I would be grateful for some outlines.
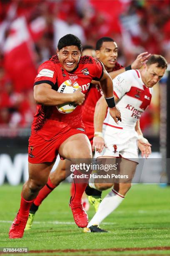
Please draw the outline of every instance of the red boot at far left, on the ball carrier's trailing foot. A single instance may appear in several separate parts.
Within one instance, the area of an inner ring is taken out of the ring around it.
[[[27,224],[28,218],[25,220],[20,219],[18,214],[16,215],[9,231],[9,238],[14,239],[14,238],[22,238],[24,234],[24,229]]]

